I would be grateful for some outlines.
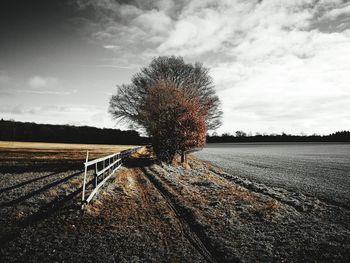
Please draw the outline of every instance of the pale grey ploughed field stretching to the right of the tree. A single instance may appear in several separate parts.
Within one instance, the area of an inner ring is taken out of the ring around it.
[[[195,156],[229,174],[350,209],[349,143],[208,144]]]

